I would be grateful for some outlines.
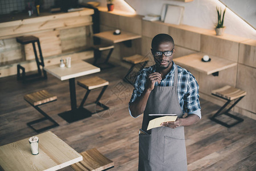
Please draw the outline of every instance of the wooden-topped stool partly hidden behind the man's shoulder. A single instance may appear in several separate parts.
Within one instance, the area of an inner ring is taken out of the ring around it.
[[[136,64],[143,63],[140,68],[140,70],[142,70],[147,65],[149,59],[148,59],[148,57],[144,57],[142,55],[136,54],[133,56],[125,57],[125,58],[123,58],[123,60],[125,60],[126,62],[129,62],[129,63],[132,63],[131,68],[129,68],[129,70],[128,70],[127,74],[124,76],[123,80],[127,81],[128,83],[133,85],[131,80],[128,79],[128,75],[132,72],[132,70],[136,66]]]

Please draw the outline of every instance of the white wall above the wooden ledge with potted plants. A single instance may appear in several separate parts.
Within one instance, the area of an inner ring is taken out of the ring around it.
[[[85,0],[84,0],[85,1]],[[98,0],[101,3],[101,6],[106,6],[105,0]],[[213,30],[217,21],[217,12],[216,6],[221,6],[222,9],[225,8],[222,3],[218,0],[194,0],[192,2],[178,2],[178,1],[166,1],[166,0],[140,0],[140,1],[132,1],[126,0],[129,5],[136,10],[136,13],[139,15],[147,15],[147,14],[161,14],[162,5],[171,4],[184,6],[184,18],[183,24],[195,27],[206,28],[209,30]],[[236,0],[239,1],[239,0]],[[248,0],[247,0],[248,1]],[[127,7],[124,5],[123,0],[115,0],[115,9],[118,10],[127,10]],[[255,11],[255,6],[251,5],[250,9]],[[243,11],[246,13],[247,10]],[[255,15],[255,14],[254,14]],[[256,30],[251,28],[247,23],[234,15],[230,10],[226,11],[225,14],[225,22],[226,26],[225,32],[227,34],[238,35],[245,38],[255,39],[256,40]]]

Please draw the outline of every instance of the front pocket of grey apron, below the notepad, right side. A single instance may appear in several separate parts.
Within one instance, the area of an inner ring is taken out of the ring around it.
[[[180,162],[186,160],[185,139],[173,139],[164,136],[164,162]]]

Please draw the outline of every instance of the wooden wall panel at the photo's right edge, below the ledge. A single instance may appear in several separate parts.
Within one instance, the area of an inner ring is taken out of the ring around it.
[[[238,62],[256,68],[256,40],[250,39],[239,44]]]

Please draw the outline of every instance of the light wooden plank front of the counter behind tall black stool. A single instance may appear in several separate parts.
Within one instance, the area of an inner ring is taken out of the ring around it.
[[[46,65],[59,63],[65,55],[76,54],[78,58],[78,54],[86,54],[79,59],[92,58],[92,51],[86,51],[91,42],[92,14],[92,9],[43,13],[39,17],[0,23],[0,78],[17,74],[17,64],[22,64],[26,72],[36,70],[32,44],[24,46],[17,43],[18,36],[34,35],[39,38]]]

